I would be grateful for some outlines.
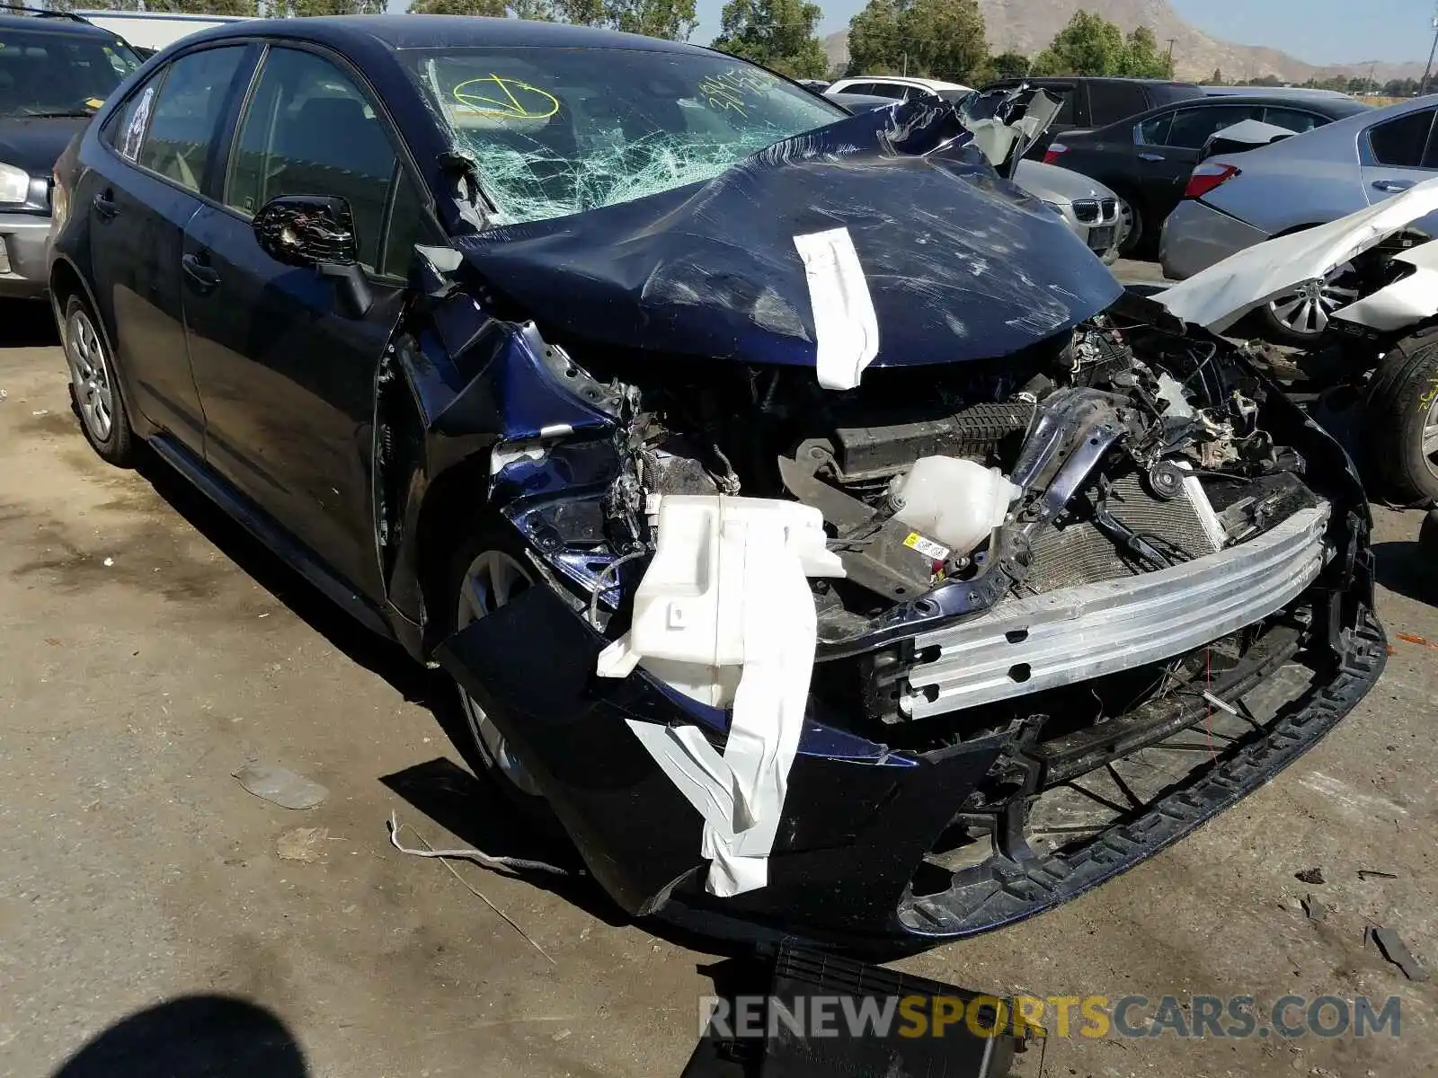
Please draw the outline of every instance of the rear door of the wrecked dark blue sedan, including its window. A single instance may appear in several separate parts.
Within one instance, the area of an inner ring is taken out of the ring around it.
[[[203,204],[216,134],[247,70],[247,47],[180,56],[137,88],[101,134],[81,193],[101,315],[134,404],[196,453],[200,408],[180,299],[184,227]]]

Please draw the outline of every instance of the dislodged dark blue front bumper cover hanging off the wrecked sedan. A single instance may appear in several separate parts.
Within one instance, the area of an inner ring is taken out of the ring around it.
[[[1301,589],[1296,581],[1309,576],[1311,526],[1300,520],[1255,559],[1291,558],[1291,572],[1276,572],[1284,584],[1274,596]],[[1205,720],[1206,704],[1199,699],[1201,710],[1191,700],[1186,710],[1156,722],[1116,716],[1040,745],[1025,743],[1024,730],[1009,726],[976,732],[945,749],[906,752],[841,729],[818,699],[811,700],[768,885],[729,898],[705,891],[699,812],[627,726],[628,720],[696,726],[722,746],[725,713],[696,704],[643,670],[626,678],[595,677],[607,640],[549,588],[531,588],[456,634],[440,647],[439,658],[518,750],[594,878],[628,914],[654,914],[716,936],[798,934],[831,946],[892,952],[975,934],[1058,906],[1150,857],[1291,763],[1363,697],[1383,668],[1383,634],[1365,605],[1368,572],[1360,552],[1345,591],[1322,579],[1307,586],[1276,618],[1284,622],[1291,645],[1270,645],[1267,657],[1255,647],[1257,657],[1247,667],[1228,681],[1212,683],[1214,697],[1234,709],[1258,690],[1281,697],[1271,717],[1244,720],[1227,734],[1221,729],[1227,713],[1209,707]],[[1215,621],[1204,631],[1222,631],[1224,624]],[[1307,627],[1301,632],[1294,628],[1300,624]],[[827,676],[820,664],[815,680]],[[1081,842],[1067,835],[1045,851],[1028,834],[1043,822],[1032,814],[1041,815],[1044,799],[1061,796],[1074,778],[1102,773],[1104,762],[1153,770],[1145,753],[1178,752],[1171,749],[1175,737],[1202,736],[1188,733],[1195,726],[1222,743],[1165,779],[1148,802],[1096,825]],[[995,776],[1007,782],[1015,760],[1031,766],[1032,785],[995,805]],[[940,839],[956,821],[984,812],[989,814],[992,849],[966,867],[936,870],[932,855]],[[933,885],[936,871],[942,878]]]

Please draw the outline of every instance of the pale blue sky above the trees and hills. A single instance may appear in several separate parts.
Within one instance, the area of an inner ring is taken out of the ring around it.
[[[818,0],[821,34],[843,30],[864,0]],[[1426,60],[1432,0],[1169,0],[1192,26],[1238,45],[1267,45],[1310,63]],[[699,0],[707,45],[719,32],[723,0]]]

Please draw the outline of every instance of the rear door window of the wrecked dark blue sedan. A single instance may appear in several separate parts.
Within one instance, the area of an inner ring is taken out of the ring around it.
[[[168,66],[150,111],[148,128],[142,132],[138,157],[142,167],[191,191],[204,190],[210,145],[219,134],[230,82],[244,59],[244,47],[206,49],[181,56]],[[144,103],[145,92],[138,96],[137,109]]]

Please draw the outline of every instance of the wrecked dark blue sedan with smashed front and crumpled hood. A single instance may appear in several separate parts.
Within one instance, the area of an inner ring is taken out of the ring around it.
[[[1012,923],[1386,655],[1343,450],[1009,181],[1055,105],[851,116],[518,20],[198,33],[56,168],[76,413],[443,665],[630,914]]]

